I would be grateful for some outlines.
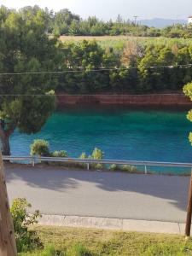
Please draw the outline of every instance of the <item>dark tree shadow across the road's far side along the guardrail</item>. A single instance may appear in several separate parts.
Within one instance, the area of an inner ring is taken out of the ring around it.
[[[63,192],[66,189],[77,189],[80,182],[87,182],[112,193],[132,191],[164,198],[183,211],[186,209],[189,189],[189,177],[67,171],[56,167],[6,167],[6,178],[8,183],[22,180],[31,187]]]

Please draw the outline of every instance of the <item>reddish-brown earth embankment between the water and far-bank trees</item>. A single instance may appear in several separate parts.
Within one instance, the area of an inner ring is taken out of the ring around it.
[[[192,106],[183,94],[151,95],[66,95],[58,96],[59,106],[74,104],[108,104],[132,106]]]

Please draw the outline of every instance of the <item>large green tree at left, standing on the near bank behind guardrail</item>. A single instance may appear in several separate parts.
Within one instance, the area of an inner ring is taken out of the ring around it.
[[[56,39],[48,38],[45,23],[38,10],[29,20],[11,12],[0,25],[0,73],[12,73],[0,76],[0,138],[6,155],[15,128],[36,133],[55,109],[57,79],[30,74],[55,70],[60,61]]]

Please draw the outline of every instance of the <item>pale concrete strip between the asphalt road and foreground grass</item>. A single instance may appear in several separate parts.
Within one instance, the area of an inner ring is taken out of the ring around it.
[[[38,224],[73,228],[94,228],[184,235],[184,224],[154,220],[97,218],[43,214]]]

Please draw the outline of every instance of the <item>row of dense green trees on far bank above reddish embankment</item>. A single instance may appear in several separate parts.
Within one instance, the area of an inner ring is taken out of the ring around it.
[[[58,90],[67,93],[177,91],[192,79],[192,67],[180,67],[192,63],[192,46],[130,42],[117,53],[113,48],[102,49],[96,41],[84,40],[63,44],[61,51],[62,68],[77,71],[59,77]]]

